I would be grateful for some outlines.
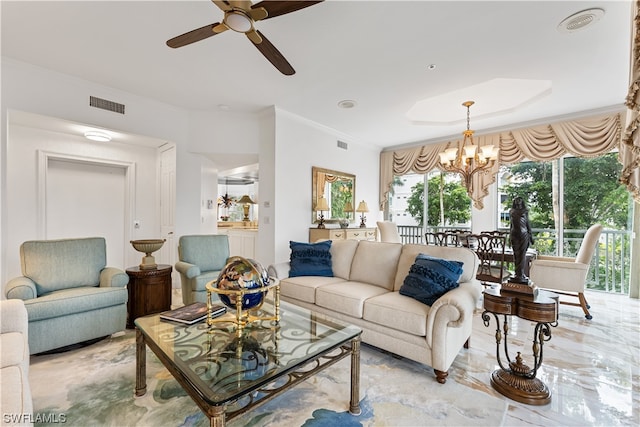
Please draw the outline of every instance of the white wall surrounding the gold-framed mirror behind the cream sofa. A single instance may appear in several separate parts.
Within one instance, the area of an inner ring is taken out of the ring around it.
[[[284,110],[276,109],[275,126],[275,249],[273,260],[289,259],[289,240],[308,242],[311,221],[311,167],[356,176],[355,200],[365,200],[371,212],[367,225],[382,218],[378,201],[380,152],[354,143],[338,148],[337,133]],[[348,141],[345,141],[348,142]],[[262,175],[262,166],[261,166]],[[264,191],[261,179],[260,189]],[[356,204],[357,206],[357,204]],[[358,215],[359,218],[359,215]]]

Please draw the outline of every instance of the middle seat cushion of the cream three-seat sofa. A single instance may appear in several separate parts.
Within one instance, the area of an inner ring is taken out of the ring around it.
[[[361,318],[364,302],[387,292],[380,286],[353,281],[324,285],[316,288],[316,305]]]

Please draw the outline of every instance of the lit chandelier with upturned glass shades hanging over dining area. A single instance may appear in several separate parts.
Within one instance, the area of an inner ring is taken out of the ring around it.
[[[469,196],[473,194],[473,176],[478,172],[488,173],[498,158],[498,149],[493,145],[482,146],[478,151],[478,146],[473,143],[473,131],[469,128],[469,107],[473,104],[473,101],[462,103],[467,107],[467,130],[462,132],[462,147],[447,148],[439,153],[441,169],[459,173]]]

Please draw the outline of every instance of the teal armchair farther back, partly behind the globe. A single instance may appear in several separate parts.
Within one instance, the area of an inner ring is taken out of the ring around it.
[[[175,267],[180,273],[182,302],[207,302],[206,284],[218,278],[229,258],[229,237],[221,234],[181,236]],[[217,298],[217,296],[216,296]]]

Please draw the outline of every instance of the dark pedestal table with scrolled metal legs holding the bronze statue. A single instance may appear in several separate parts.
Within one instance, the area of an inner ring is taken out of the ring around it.
[[[491,314],[496,319],[496,357],[499,369],[491,374],[491,385],[504,396],[530,405],[546,405],[551,402],[551,392],[536,373],[542,365],[542,349],[545,341],[551,339],[551,327],[558,325],[558,295],[549,291],[538,291],[538,294],[527,295],[508,292],[501,289],[484,291],[484,312],[482,320],[489,326]],[[502,331],[500,317],[503,315]],[[525,365],[520,352],[515,360],[509,356],[507,336],[509,323],[507,316],[518,316],[521,319],[536,322],[533,338],[533,368]],[[504,356],[508,365],[500,356],[500,343],[504,332]]]

